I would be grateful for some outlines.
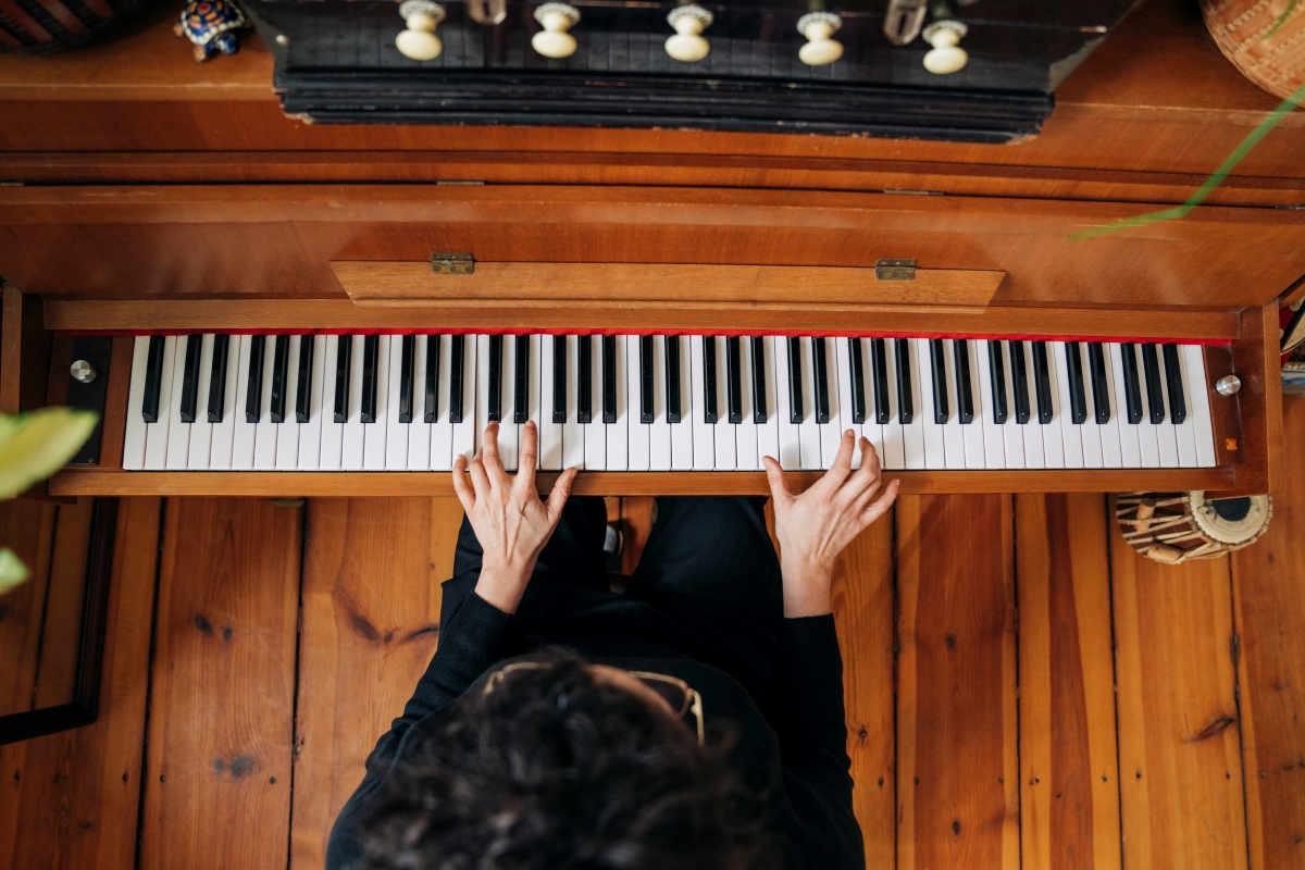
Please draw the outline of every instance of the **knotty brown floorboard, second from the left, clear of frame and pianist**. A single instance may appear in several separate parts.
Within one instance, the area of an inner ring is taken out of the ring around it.
[[[159,574],[140,866],[283,866],[299,510],[174,498]]]

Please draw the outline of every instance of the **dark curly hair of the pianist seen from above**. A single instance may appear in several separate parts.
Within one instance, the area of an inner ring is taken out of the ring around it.
[[[363,823],[372,870],[770,870],[763,800],[681,723],[586,661],[467,693],[423,734]]]

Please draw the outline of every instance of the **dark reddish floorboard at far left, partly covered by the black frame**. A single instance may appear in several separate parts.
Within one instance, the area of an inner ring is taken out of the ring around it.
[[[0,746],[0,866],[134,866],[159,509],[119,505],[97,720]]]

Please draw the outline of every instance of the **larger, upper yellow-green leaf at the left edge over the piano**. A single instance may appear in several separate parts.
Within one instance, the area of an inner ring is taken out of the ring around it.
[[[95,429],[98,415],[40,408],[0,415],[0,498],[12,498],[72,459]]]

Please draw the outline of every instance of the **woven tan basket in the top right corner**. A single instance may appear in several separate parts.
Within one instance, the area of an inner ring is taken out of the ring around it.
[[[1274,26],[1291,0],[1201,0],[1201,12],[1224,57],[1283,99],[1305,85],[1305,0]],[[1272,35],[1268,35],[1272,31]]]

